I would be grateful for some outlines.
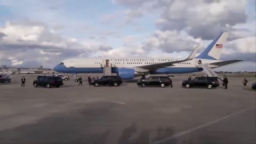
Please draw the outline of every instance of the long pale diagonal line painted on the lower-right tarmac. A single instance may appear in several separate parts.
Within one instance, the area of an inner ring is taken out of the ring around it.
[[[251,110],[251,109],[255,109],[255,107],[246,108],[246,109],[237,111],[237,112],[234,113],[234,114],[227,115],[227,116],[225,116],[225,117],[216,119],[215,121],[212,121],[212,122],[209,122],[209,123],[206,123],[206,124],[203,124],[203,125],[199,125],[199,126],[193,128],[193,129],[189,129],[189,130],[187,130],[187,131],[183,131],[183,132],[174,134],[172,137],[169,137],[169,138],[166,138],[166,139],[163,139],[163,140],[159,140],[159,141],[156,141],[156,142],[154,142],[154,143],[163,143],[163,142],[165,142],[165,141],[167,141],[167,140],[171,140],[171,139],[173,139],[173,138],[180,137],[180,136],[185,135],[185,134],[188,134],[188,133],[190,133],[190,132],[194,132],[194,131],[196,131],[196,130],[202,129],[203,127],[212,125],[212,124],[214,124],[214,123],[218,123],[218,122],[220,122],[220,121],[222,121],[222,120],[224,120],[224,119],[227,119],[227,118],[229,118],[229,117],[232,117],[232,116],[241,114],[241,113],[243,113],[244,111]]]

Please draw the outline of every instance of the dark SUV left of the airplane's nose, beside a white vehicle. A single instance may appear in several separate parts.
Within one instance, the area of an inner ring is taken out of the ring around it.
[[[55,76],[38,76],[37,80],[33,82],[34,87],[37,86],[46,86],[51,88],[52,86],[60,87],[63,85],[61,77]]]

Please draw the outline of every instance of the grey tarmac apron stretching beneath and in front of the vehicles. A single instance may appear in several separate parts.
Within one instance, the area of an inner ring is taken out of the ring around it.
[[[0,83],[0,143],[256,143],[255,77],[229,77],[228,89],[181,86],[33,86],[37,75]]]

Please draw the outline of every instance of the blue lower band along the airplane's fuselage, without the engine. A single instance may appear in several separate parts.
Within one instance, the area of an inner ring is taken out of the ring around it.
[[[118,74],[119,68],[111,68],[112,73]],[[54,71],[59,73],[103,73],[103,68],[67,68],[64,65],[58,65],[53,68]],[[150,74],[182,74],[182,73],[194,73],[202,71],[202,68],[175,68],[166,67],[158,70],[150,71]]]

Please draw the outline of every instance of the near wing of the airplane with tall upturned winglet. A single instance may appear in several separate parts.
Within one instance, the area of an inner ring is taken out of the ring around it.
[[[197,45],[195,47],[194,51],[191,52],[189,57],[187,59],[185,59],[185,60],[170,61],[170,62],[157,63],[157,64],[152,64],[152,65],[138,66],[138,68],[148,69],[148,70],[155,70],[155,69],[164,68],[164,67],[171,67],[171,66],[174,66],[173,65],[174,63],[179,63],[179,62],[193,60],[195,58],[195,56],[196,56],[196,53],[197,53],[198,49],[199,49],[199,46]]]

